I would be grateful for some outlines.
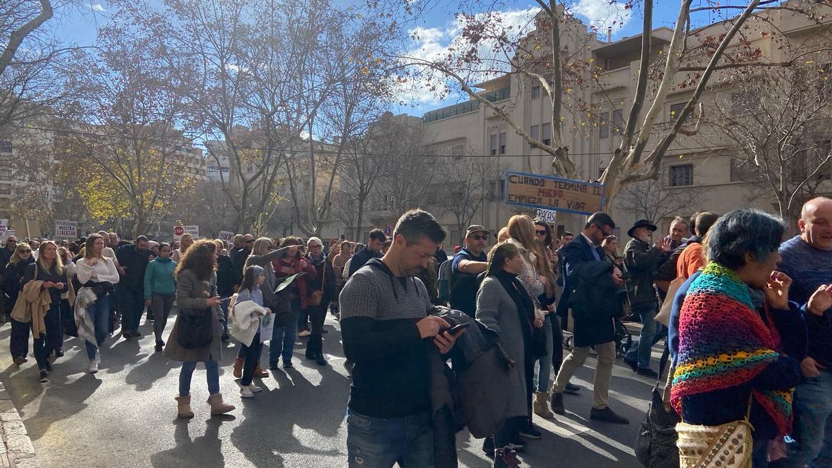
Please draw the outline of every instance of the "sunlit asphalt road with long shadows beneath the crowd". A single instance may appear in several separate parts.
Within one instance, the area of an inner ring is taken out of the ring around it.
[[[171,316],[167,330],[170,331]],[[324,351],[330,366],[304,359],[305,339],[295,346],[295,369],[273,371],[264,391],[241,401],[231,376],[235,346],[223,350],[220,385],[226,401],[237,406],[230,416],[210,417],[205,370],[197,367],[191,385],[196,417],[176,418],[180,363],[153,351],[151,325],[143,323],[140,341],[120,334],[106,341],[101,371],[90,375],[82,343],[67,340],[48,384],[37,382],[34,358],[17,369],[8,352],[10,326],[0,327],[0,379],[21,412],[42,466],[347,466],[344,411],[349,377],[337,321],[329,317]],[[265,350],[264,350],[265,352]],[[657,354],[656,354],[657,356]],[[641,466],[631,447],[647,407],[652,383],[621,361],[615,367],[611,406],[630,418],[619,426],[589,420],[592,366],[580,369],[573,383],[580,396],[565,396],[567,416],[535,423],[543,432],[529,442],[521,460],[527,466]],[[488,467],[481,440],[458,435],[460,466]]]

